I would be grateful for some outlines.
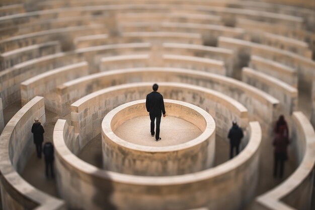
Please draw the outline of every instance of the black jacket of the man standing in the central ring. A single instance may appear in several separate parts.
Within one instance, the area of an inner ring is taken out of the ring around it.
[[[147,94],[145,106],[146,111],[150,112],[153,116],[161,115],[161,111],[165,114],[163,96],[156,91]]]

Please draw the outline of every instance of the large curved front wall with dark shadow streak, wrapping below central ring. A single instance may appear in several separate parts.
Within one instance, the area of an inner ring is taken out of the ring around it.
[[[209,210],[231,210],[245,206],[254,196],[262,135],[258,122],[249,123],[250,140],[239,156],[211,169],[166,177],[126,175],[96,168],[66,147],[65,127],[66,120],[59,119],[53,140],[58,189],[69,208],[180,210],[204,206]]]

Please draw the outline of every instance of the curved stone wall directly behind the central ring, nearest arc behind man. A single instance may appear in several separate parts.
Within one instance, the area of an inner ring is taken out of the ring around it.
[[[243,128],[247,127],[247,109],[228,96],[187,84],[161,82],[159,86],[165,99],[191,103],[209,112],[216,122],[216,134],[224,139],[232,120],[237,119]],[[151,91],[152,83],[125,84],[99,90],[71,104],[72,125],[80,134],[78,147],[83,148],[101,133],[100,124],[109,111],[124,103],[144,99]]]

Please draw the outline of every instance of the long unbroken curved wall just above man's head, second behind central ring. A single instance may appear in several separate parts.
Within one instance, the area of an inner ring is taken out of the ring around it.
[[[264,129],[269,129],[268,132],[272,130],[272,124],[279,114],[279,101],[253,86],[219,75],[178,68],[134,68],[94,74],[64,83],[57,87],[57,94],[62,99],[61,106],[64,109],[63,115],[65,115],[69,113],[67,109],[70,103],[89,93],[112,85],[148,81],[152,83],[159,81],[180,82],[224,93],[244,104],[249,110],[249,117],[259,120]]]

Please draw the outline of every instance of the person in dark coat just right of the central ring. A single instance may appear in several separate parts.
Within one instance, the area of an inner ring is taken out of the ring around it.
[[[232,122],[232,127],[228,132],[228,138],[229,138],[229,143],[230,143],[230,153],[229,153],[229,158],[233,158],[233,150],[235,148],[236,150],[236,155],[239,155],[240,152],[240,143],[243,138],[243,130],[242,128],[239,127],[238,123],[234,120]]]

